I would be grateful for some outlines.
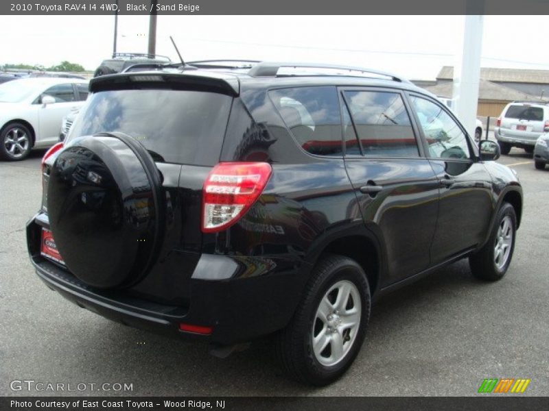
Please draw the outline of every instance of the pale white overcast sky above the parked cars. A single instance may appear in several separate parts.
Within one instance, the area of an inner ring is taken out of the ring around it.
[[[327,62],[434,79],[453,65],[463,16],[159,16],[156,53]],[[547,16],[485,16],[483,67],[548,69]],[[113,51],[114,16],[0,16],[0,64],[95,70]],[[146,52],[148,16],[119,16],[117,51]]]

